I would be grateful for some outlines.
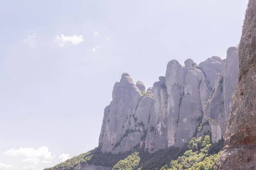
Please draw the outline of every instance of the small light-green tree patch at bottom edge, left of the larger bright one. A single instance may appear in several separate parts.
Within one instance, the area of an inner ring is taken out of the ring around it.
[[[134,170],[140,163],[140,156],[138,152],[134,152],[127,158],[120,160],[112,170]]]

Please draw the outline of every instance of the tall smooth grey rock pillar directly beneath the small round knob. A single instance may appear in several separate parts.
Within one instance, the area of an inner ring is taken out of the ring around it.
[[[184,84],[184,96],[180,105],[179,122],[177,125],[175,146],[181,147],[189,141],[201,124],[203,111],[200,101],[198,75],[195,68],[186,73]],[[198,69],[197,69],[198,70]],[[199,70],[198,70],[199,71]],[[203,75],[203,74],[202,74]],[[200,84],[199,84],[200,83]]]

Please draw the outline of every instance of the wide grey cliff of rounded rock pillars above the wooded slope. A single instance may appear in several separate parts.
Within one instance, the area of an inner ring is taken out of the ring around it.
[[[212,132],[218,142],[226,128],[232,95],[238,82],[237,48],[227,50],[227,59],[213,56],[197,65],[171,60],[166,76],[159,77],[145,92],[122,74],[105,108],[99,146],[102,152],[126,152],[134,147],[149,152],[181,147],[196,135]]]

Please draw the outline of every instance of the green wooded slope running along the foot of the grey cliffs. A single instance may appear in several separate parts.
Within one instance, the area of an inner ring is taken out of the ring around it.
[[[210,136],[198,137],[181,148],[169,147],[154,153],[145,151],[145,144],[143,148],[138,144],[133,150],[118,154],[102,153],[101,147],[96,147],[45,170],[74,170],[78,164],[113,167],[113,170],[213,170],[223,143],[224,139],[211,144]]]

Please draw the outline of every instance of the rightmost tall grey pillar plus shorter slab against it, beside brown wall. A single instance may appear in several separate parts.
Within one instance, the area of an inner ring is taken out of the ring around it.
[[[215,75],[214,88],[207,104],[206,116],[212,129],[213,142],[225,137],[232,96],[238,83],[238,68],[238,48],[230,47],[227,50],[227,59],[221,61],[221,74]]]

